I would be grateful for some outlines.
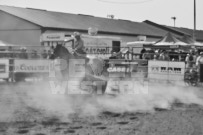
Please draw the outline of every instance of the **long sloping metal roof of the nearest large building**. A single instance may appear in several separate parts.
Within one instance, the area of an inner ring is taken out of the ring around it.
[[[162,37],[167,33],[167,31],[163,29],[144,22],[132,22],[128,20],[2,5],[0,5],[0,11],[47,28],[88,30],[89,27],[96,27],[99,32],[146,35],[152,37]]]

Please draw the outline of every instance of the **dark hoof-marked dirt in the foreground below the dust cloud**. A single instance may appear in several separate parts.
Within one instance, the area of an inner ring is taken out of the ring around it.
[[[27,85],[26,89],[29,87]],[[81,115],[79,108],[69,112],[68,119],[63,119],[58,115],[47,115],[43,108],[39,109],[25,103],[24,101],[30,100],[26,99],[26,95],[23,95],[23,100],[19,100],[18,96],[5,92],[12,89],[14,93],[19,93],[16,88],[15,85],[1,84],[1,93],[4,91],[4,94],[0,96],[0,113],[3,115],[0,117],[0,135],[203,134],[203,107],[197,104],[173,103],[170,109],[154,108],[151,112],[118,113],[102,111],[97,115]],[[22,90],[25,87],[20,88]],[[22,106],[12,109],[15,108],[15,104]],[[6,109],[8,107],[10,110]],[[13,115],[15,119],[12,119]]]

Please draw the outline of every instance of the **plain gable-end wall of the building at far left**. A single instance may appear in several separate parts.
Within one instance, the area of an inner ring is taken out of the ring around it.
[[[41,28],[0,11],[0,40],[13,45],[40,45]]]

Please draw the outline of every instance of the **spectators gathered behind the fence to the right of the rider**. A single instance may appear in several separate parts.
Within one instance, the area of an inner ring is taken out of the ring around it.
[[[161,50],[161,49],[149,49],[143,48],[139,54],[129,53],[131,55],[130,59],[136,60],[160,60],[160,61],[182,61],[185,62],[186,68],[198,68],[200,63],[203,64],[203,51],[198,50],[188,50],[188,51],[177,51],[171,50]],[[129,59],[125,57],[121,52],[111,52],[109,59]]]

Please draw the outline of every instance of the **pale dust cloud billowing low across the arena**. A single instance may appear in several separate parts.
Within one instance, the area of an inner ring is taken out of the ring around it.
[[[69,95],[53,94],[47,82],[5,84],[0,90],[0,121],[41,121],[47,117],[69,121],[73,114],[96,117],[105,111],[153,113],[154,108],[170,109],[174,102],[203,104],[198,88],[147,85],[147,93]],[[139,87],[142,85],[133,89]]]

